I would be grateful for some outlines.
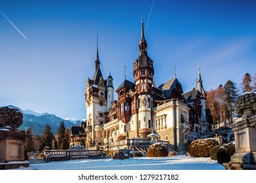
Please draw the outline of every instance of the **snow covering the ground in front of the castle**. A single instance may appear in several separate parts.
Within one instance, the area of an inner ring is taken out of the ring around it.
[[[224,170],[211,158],[172,156],[166,158],[79,159],[30,165],[38,170]]]

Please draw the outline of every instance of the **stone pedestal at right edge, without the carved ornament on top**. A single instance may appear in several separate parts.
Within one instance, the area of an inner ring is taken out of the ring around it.
[[[230,125],[234,131],[236,153],[226,169],[256,169],[256,115],[244,115]]]

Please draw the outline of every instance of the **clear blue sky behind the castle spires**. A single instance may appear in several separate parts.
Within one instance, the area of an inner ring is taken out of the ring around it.
[[[153,6],[152,6],[153,5]],[[150,9],[152,9],[150,13]],[[156,85],[177,78],[184,92],[256,73],[256,1],[0,1],[0,106],[85,118],[96,31],[100,68],[117,88],[133,81],[141,10]],[[115,95],[117,98],[117,95]]]

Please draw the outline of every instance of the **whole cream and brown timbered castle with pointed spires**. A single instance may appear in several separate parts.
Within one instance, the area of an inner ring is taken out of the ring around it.
[[[129,148],[127,142],[137,139],[165,142],[174,151],[186,152],[190,142],[211,131],[200,69],[197,86],[190,92],[183,93],[176,76],[157,87],[147,47],[142,18],[139,57],[133,62],[134,80],[121,82],[114,101],[113,77],[104,80],[97,46],[95,73],[92,79],[87,78],[85,92],[87,148]]]

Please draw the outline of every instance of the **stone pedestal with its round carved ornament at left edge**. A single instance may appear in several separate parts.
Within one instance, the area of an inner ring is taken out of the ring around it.
[[[0,169],[28,167],[25,160],[25,131],[17,129],[23,123],[19,108],[0,108]]]

